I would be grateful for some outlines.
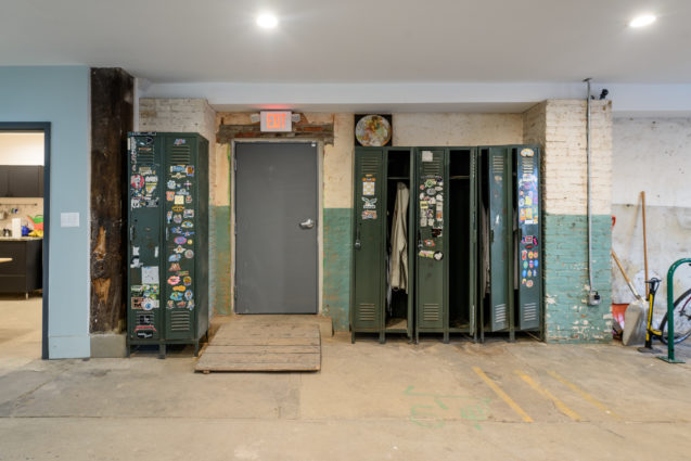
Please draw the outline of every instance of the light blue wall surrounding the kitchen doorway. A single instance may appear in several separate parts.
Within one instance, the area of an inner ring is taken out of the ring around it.
[[[89,67],[0,67],[0,121],[50,121],[50,358],[89,357]],[[79,213],[61,228],[61,213]]]

